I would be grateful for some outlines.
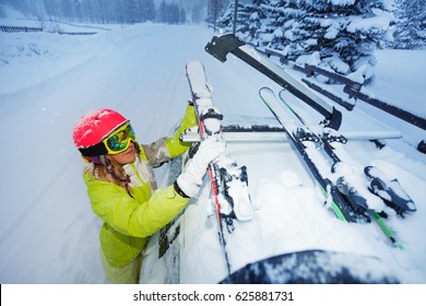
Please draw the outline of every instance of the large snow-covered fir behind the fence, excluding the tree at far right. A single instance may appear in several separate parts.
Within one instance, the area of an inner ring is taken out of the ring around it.
[[[389,0],[253,0],[238,35],[281,50],[288,60],[315,60],[339,73],[372,76],[374,50],[387,39]],[[221,26],[230,28],[228,20]]]

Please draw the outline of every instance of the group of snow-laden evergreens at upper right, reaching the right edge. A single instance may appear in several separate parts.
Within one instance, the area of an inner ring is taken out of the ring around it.
[[[425,0],[397,1],[253,0],[239,4],[237,17],[230,1],[216,26],[286,60],[368,82],[377,48],[426,48]]]

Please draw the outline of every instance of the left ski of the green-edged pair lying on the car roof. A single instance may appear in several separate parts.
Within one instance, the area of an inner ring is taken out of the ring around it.
[[[327,170],[322,169],[321,172],[319,169],[317,164],[319,164],[319,160],[324,160],[324,154],[329,155],[333,162],[330,167],[331,169],[341,162],[332,151],[330,143],[328,141],[323,141],[323,138],[312,132],[309,127],[305,125],[304,119],[287,105],[291,110],[289,113],[300,121],[299,125],[296,123],[293,118],[287,115],[283,104],[276,98],[271,89],[260,89],[259,95],[274,117],[284,127],[288,138],[292,140],[294,146],[297,149],[297,152],[310,169],[317,184],[320,186],[327,201],[331,201],[331,208],[336,216],[347,222],[369,223],[375,220],[391,243],[394,246],[402,248],[401,245],[397,243],[392,231],[388,228],[379,213],[371,210],[368,205],[367,199],[369,198],[357,190],[356,187],[358,184],[356,184],[356,181],[354,184],[352,176],[348,176],[348,178],[342,175],[334,179]],[[335,134],[333,134],[333,137],[335,137]],[[341,136],[339,136],[338,139],[340,139],[340,141],[345,141]],[[326,163],[326,167],[327,166],[330,166],[330,164]],[[331,199],[329,199],[330,197]],[[380,203],[378,205],[380,205]]]

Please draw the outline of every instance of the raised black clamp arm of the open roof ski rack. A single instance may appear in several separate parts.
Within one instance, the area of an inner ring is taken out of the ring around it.
[[[336,130],[340,128],[340,110],[234,34],[214,36],[205,46],[205,50],[222,62],[225,62],[227,54],[232,52],[323,115],[326,126]]]

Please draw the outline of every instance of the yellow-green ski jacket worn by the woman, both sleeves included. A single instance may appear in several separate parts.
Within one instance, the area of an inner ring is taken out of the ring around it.
[[[110,181],[97,179],[90,166],[83,174],[92,209],[103,221],[99,239],[102,250],[113,267],[123,267],[144,248],[149,237],[173,221],[189,199],[175,192],[174,186],[157,189],[153,167],[185,153],[190,144],[179,134],[197,125],[194,109],[186,115],[173,138],[141,145],[141,154],[125,165],[131,178],[131,195]]]

